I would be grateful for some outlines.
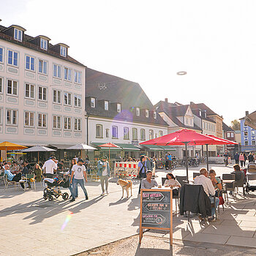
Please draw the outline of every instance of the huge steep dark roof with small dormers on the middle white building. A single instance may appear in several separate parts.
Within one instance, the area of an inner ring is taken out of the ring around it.
[[[91,108],[90,101],[86,100],[86,112],[90,115],[167,127],[158,113],[157,118],[154,118],[154,106],[138,83],[87,67],[86,97],[94,97],[98,102],[96,108]],[[105,110],[104,104],[99,104],[104,100],[110,102],[109,110]],[[113,107],[116,103],[121,103],[121,113],[117,113],[116,107]],[[135,108],[140,108],[140,116],[136,116]],[[146,118],[145,110],[149,110],[148,118]]]

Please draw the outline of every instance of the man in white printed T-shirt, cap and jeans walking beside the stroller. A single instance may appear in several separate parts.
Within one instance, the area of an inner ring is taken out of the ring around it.
[[[73,180],[73,177],[74,177],[74,180]],[[80,184],[80,187],[83,189],[84,195],[86,196],[86,200],[89,200],[86,187],[84,187],[83,178],[85,178],[87,182],[86,167],[83,165],[83,159],[78,159],[78,165],[72,166],[70,183],[73,184],[73,187],[71,192],[72,199],[70,200],[70,202],[75,201],[75,190],[78,188],[78,184]]]

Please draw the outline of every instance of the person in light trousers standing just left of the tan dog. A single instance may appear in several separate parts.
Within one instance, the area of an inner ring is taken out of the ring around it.
[[[105,182],[106,193],[108,195],[108,178],[110,177],[110,166],[107,159],[108,159],[107,156],[103,156],[102,161],[99,160],[97,164],[97,169],[98,169],[97,176],[99,176],[100,184],[102,187],[101,195],[105,195],[104,182]]]

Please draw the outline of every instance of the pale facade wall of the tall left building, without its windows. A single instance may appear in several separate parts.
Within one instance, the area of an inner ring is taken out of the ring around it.
[[[4,48],[4,63],[0,63],[0,78],[3,78],[3,91],[0,93],[0,140],[8,140],[27,146],[48,145],[49,143],[81,143],[85,141],[85,67],[69,61],[31,50],[12,42],[0,39]],[[18,52],[18,67],[7,64],[7,50]],[[26,56],[35,59],[35,71],[26,70]],[[48,64],[48,75],[39,73],[39,59]],[[53,78],[53,64],[61,65],[61,79]],[[72,69],[72,81],[64,80],[64,67]],[[81,72],[81,83],[74,83],[74,71]],[[18,82],[18,97],[7,95],[7,79]],[[25,97],[25,83],[35,86],[34,99]],[[47,100],[38,99],[39,86],[47,89]],[[61,104],[53,104],[53,89],[61,91]],[[72,94],[72,105],[64,105],[64,92]],[[74,107],[74,94],[81,97],[81,107]],[[7,124],[7,109],[18,110],[17,125]],[[34,125],[25,127],[24,112],[34,113]],[[47,116],[47,127],[38,127],[38,114]],[[61,116],[61,129],[53,129],[53,114]],[[71,129],[64,130],[64,117],[70,117]],[[81,131],[74,130],[74,118],[81,118]]]

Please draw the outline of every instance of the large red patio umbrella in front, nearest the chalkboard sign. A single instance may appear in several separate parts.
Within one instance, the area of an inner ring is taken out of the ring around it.
[[[187,170],[187,181],[189,180],[189,166],[187,159],[187,146],[196,146],[196,145],[215,145],[214,143],[221,143],[219,138],[212,138],[208,135],[203,135],[202,133],[195,132],[191,129],[181,129],[177,132],[173,132],[167,135],[164,135],[153,140],[147,140],[140,145],[159,145],[159,146],[183,146],[185,145],[186,152],[186,170]],[[207,146],[206,146],[207,148]],[[208,148],[207,148],[208,150]],[[208,156],[208,154],[207,154]],[[208,157],[207,157],[208,159]],[[207,165],[208,167],[208,165]]]

